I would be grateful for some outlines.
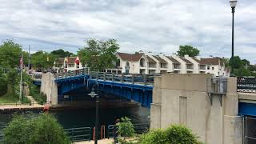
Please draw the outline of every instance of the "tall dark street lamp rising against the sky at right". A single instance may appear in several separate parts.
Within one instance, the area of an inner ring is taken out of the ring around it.
[[[230,76],[234,77],[234,8],[237,5],[236,0],[230,0],[230,7],[232,9],[232,56],[231,56],[231,72]]]

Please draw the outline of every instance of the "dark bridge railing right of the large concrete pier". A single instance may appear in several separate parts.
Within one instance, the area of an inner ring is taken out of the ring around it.
[[[242,93],[256,93],[256,78],[237,78],[237,90]]]

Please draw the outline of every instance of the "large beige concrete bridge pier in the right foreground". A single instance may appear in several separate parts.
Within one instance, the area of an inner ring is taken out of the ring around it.
[[[204,143],[242,143],[236,78],[228,78],[228,93],[222,97],[222,105],[216,94],[211,105],[206,93],[207,78],[212,78],[212,74],[162,74],[155,78],[151,128],[181,123]]]

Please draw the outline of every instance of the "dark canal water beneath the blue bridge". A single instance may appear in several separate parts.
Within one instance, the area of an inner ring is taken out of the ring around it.
[[[32,111],[39,114],[40,111]],[[25,113],[25,112],[19,112]],[[95,122],[95,107],[50,110],[64,128],[93,127]],[[14,113],[0,113],[0,126],[7,125]],[[102,107],[99,109],[99,122],[102,126],[114,124],[117,118],[128,117],[134,124],[150,123],[150,109],[142,106]]]

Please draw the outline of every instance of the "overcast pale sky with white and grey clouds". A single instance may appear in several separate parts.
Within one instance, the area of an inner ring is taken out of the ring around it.
[[[256,63],[256,1],[238,0],[234,54]],[[76,53],[90,38],[114,38],[121,52],[174,54],[180,45],[201,57],[230,58],[232,14],[227,0],[0,0],[0,41],[24,50]]]

